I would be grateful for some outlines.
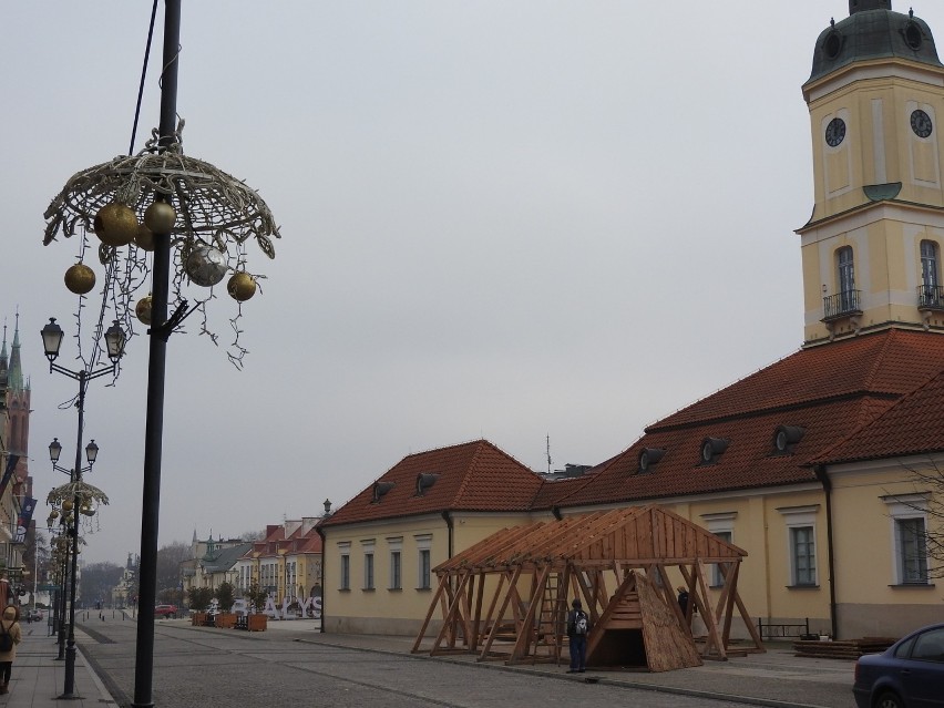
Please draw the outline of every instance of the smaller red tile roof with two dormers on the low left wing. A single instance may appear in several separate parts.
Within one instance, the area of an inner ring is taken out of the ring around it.
[[[439,475],[422,494],[420,474]],[[374,501],[374,484],[321,525],[396,519],[443,511],[527,511],[541,478],[491,442],[478,440],[403,458],[376,484],[392,484]]]

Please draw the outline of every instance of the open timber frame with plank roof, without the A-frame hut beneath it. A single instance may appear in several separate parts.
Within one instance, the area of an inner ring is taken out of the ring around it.
[[[412,651],[473,653],[479,660],[504,658],[509,664],[560,663],[573,595],[583,598],[591,616],[592,653],[606,630],[610,601],[619,596],[607,588],[607,576],[615,576],[612,589],[619,591],[634,571],[645,572],[692,643],[695,608],[701,614],[707,628],[702,658],[731,655],[736,612],[753,640],[752,647],[741,651],[763,651],[737,591],[740,562],[746,556],[738,546],[656,504],[504,529],[433,568],[439,583]],[[720,588],[712,588],[719,591],[715,606],[709,602],[710,564],[718,565],[724,578]],[[689,594],[685,615],[667,572],[673,566]],[[486,585],[491,586],[488,606]],[[421,649],[437,608],[442,617],[440,629],[432,647]],[[513,643],[511,649],[497,648],[509,642]]]

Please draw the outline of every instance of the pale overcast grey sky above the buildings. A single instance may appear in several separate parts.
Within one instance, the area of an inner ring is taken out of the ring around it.
[[[913,7],[944,35],[941,3]],[[64,481],[47,445],[71,459],[76,421],[39,330],[74,330],[78,253],[42,246],[42,215],[126,152],[150,12],[4,11],[0,316],[9,346],[19,307],[41,500]],[[597,463],[794,351],[800,85],[831,17],[846,0],[184,0],[185,152],[258,189],[283,238],[274,261],[249,247],[268,279],[243,371],[194,327],[171,338],[161,544],[317,515],[478,438],[535,470],[545,435],[555,469]],[[163,3],[135,150],[162,29]],[[75,352],[66,338],[61,363]],[[89,480],[112,504],[86,561],[138,551],[146,368],[137,337],[117,386],[89,391]]]

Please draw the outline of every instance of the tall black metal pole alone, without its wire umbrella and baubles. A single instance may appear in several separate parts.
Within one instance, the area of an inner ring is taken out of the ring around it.
[[[164,3],[164,71],[161,75],[160,144],[173,141],[177,123],[177,53],[181,44],[181,0]],[[151,342],[147,365],[147,420],[144,431],[144,491],[141,507],[141,572],[133,708],[154,705],[154,605],[157,593],[157,523],[161,509],[161,451],[164,435],[164,378],[167,360],[167,296],[171,279],[171,235],[154,235],[151,288]]]

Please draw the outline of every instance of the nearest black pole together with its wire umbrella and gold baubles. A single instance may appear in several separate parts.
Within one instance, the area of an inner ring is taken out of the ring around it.
[[[133,708],[153,706],[152,608],[156,596],[167,338],[196,309],[205,315],[206,305],[215,299],[211,290],[197,296],[191,307],[184,297],[191,286],[213,288],[232,274],[226,293],[242,308],[255,295],[260,277],[248,270],[245,244],[254,239],[263,254],[275,258],[273,239],[280,238],[271,211],[255,189],[209,163],[184,155],[183,121],[178,122],[176,110],[181,2],[164,1],[161,119],[155,138],[136,155],[121,155],[73,175],[44,213],[45,245],[55,242],[58,235],[65,239],[93,232],[98,236],[102,242],[99,259],[106,266],[103,304],[124,318],[123,322],[133,326],[132,316],[136,316],[150,327],[137,598],[144,612],[137,623]],[[65,286],[85,295],[95,287],[95,275],[82,260],[88,240],[79,240],[80,263],[66,270]],[[148,274],[151,296],[132,305],[131,298]],[[168,310],[173,310],[170,317]],[[236,319],[239,317],[242,312],[237,311]],[[235,326],[236,319],[230,324]],[[238,332],[227,356],[242,367],[248,350],[239,345]]]

